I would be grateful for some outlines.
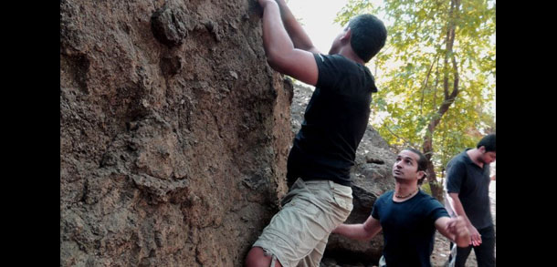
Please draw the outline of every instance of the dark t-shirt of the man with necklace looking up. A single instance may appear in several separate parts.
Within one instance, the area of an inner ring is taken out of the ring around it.
[[[411,199],[394,202],[394,190],[373,204],[372,217],[381,222],[383,255],[388,267],[431,266],[435,221],[449,217],[439,201],[421,190]]]

